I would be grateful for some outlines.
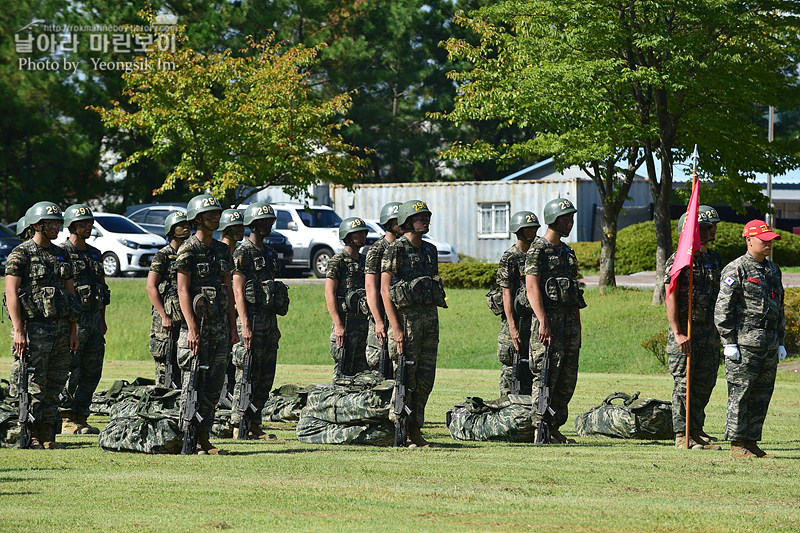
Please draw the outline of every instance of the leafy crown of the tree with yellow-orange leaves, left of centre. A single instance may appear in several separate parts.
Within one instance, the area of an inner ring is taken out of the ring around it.
[[[183,27],[168,31],[174,49],[153,47],[123,76],[136,110],[119,102],[93,107],[106,126],[151,141],[119,169],[177,150],[180,161],[160,190],[183,182],[227,204],[273,184],[299,194],[321,181],[349,185],[358,178],[366,161],[338,133],[350,95],[309,97],[308,69],[319,48],[284,50],[268,37],[249,41],[240,55],[201,54],[187,46]]]

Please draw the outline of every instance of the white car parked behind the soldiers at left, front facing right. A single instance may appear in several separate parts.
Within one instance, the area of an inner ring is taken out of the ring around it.
[[[58,237],[59,243],[66,241],[69,230],[63,228]],[[147,272],[155,253],[167,244],[163,237],[146,231],[122,215],[97,212],[92,235],[86,242],[103,254],[103,272],[107,277],[118,276],[121,272]]]

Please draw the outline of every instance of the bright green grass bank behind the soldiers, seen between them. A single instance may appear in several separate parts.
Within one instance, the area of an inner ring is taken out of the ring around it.
[[[107,310],[106,357],[149,359],[150,303],[144,279],[113,279],[109,285],[112,304]],[[290,287],[289,313],[278,319],[282,333],[278,362],[332,366],[328,348],[331,319],[325,309],[322,285]],[[500,368],[500,319],[487,309],[485,293],[470,289],[447,291],[448,308],[439,311],[440,368]],[[650,299],[649,291],[616,289],[605,295],[596,289],[586,291],[588,307],[581,315],[581,370],[636,374],[663,371],[655,357],[641,346],[642,340],[667,328],[664,308],[653,307]],[[0,324],[0,337],[9,338],[10,328],[6,319]]]

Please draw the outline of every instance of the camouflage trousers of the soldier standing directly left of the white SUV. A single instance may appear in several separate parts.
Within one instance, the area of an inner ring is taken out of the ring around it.
[[[250,317],[253,328],[253,340],[250,343],[250,383],[252,394],[250,402],[256,408],[255,413],[250,412],[249,420],[253,424],[261,424],[261,410],[267,403],[272,384],[275,382],[275,365],[278,361],[278,320],[275,313],[253,311]],[[237,321],[239,338],[242,336],[242,323]],[[239,397],[242,393],[242,379],[244,378],[244,357],[246,350],[244,344],[238,342],[233,345],[233,365],[236,367],[236,384],[233,388],[233,409],[231,410],[231,424],[238,426],[242,419],[238,410]]]

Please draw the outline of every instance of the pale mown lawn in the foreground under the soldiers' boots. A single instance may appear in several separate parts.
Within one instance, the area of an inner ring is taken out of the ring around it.
[[[10,358],[0,358],[7,375]],[[325,366],[279,365],[276,383],[324,382]],[[108,361],[112,378],[148,362]],[[306,445],[288,424],[276,442],[218,441],[229,456],[105,453],[96,437],[65,450],[0,449],[4,532],[22,531],[797,531],[800,378],[781,373],[763,447],[774,460],[679,451],[670,442],[578,439],[577,445],[458,442],[445,411],[495,397],[497,372],[442,369],[425,429],[441,447],[393,450]],[[608,393],[669,399],[663,375],[580,374],[570,419]],[[720,435],[725,383],[706,429]],[[94,422],[103,420],[93,417]],[[574,435],[572,422],[565,433]]]

